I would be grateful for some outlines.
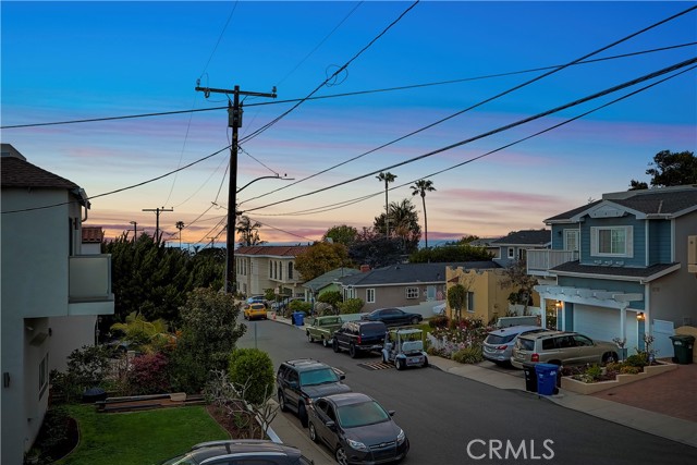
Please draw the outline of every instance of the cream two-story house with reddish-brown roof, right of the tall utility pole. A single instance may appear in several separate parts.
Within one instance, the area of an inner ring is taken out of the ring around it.
[[[252,245],[235,249],[237,291],[245,295],[277,294],[303,297],[303,277],[295,271],[295,257],[307,245]]]

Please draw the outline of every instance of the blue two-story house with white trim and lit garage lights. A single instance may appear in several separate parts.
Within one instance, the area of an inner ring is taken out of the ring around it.
[[[545,223],[552,248],[527,252],[528,273],[555,280],[536,290],[559,308],[558,328],[625,340],[629,354],[651,334],[658,356],[672,356],[674,328],[697,323],[697,185],[604,194]]]

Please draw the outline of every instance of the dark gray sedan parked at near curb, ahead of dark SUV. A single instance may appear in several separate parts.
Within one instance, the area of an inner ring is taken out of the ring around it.
[[[328,395],[310,408],[309,438],[325,443],[342,465],[399,462],[409,440],[393,415],[366,394]]]

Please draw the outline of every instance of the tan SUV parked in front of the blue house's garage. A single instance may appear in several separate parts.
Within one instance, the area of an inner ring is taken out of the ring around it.
[[[617,346],[612,342],[594,341],[571,331],[545,331],[517,338],[511,364],[523,368],[524,363],[546,363],[560,366],[604,364],[617,359]]]

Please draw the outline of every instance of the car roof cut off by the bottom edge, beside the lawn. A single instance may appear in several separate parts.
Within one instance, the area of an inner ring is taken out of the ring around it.
[[[161,465],[229,465],[236,463],[264,463],[268,465],[311,465],[296,448],[262,439],[232,439],[201,442],[188,452],[178,455]],[[247,462],[249,461],[249,462]]]

